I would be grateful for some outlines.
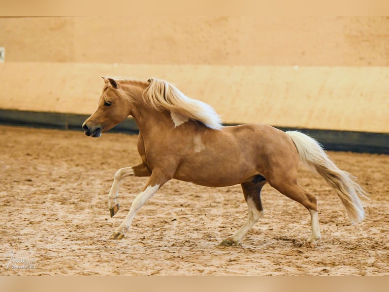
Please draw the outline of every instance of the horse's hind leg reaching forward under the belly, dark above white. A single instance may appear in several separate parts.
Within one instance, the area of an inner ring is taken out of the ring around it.
[[[243,226],[234,233],[233,236],[224,239],[220,245],[232,246],[237,245],[243,236],[251,229],[251,227],[257,222],[263,215],[264,211],[262,208],[261,201],[261,189],[266,184],[266,181],[259,183],[243,183],[241,184],[244,198],[247,202],[248,216],[247,221]]]

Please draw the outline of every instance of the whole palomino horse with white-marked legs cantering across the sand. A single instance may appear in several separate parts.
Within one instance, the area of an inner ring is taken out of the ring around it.
[[[142,162],[115,173],[108,195],[111,217],[119,210],[119,184],[129,176],[149,177],[111,239],[122,239],[138,210],[171,179],[208,187],[241,184],[248,206],[243,226],[221,245],[237,244],[263,214],[261,189],[269,183],[298,201],[311,216],[306,245],[320,239],[316,197],[297,183],[299,161],[316,170],[334,188],[352,223],[364,218],[362,188],[340,170],[313,138],[268,125],[223,127],[213,108],[186,97],[175,86],[155,78],[147,81],[104,78],[98,108],[84,122],[87,136],[100,137],[132,115],[139,127]]]

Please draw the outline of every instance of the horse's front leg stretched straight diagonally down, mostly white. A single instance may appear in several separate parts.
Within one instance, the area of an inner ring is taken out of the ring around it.
[[[158,173],[157,171],[153,171],[145,188],[136,196],[124,221],[115,229],[110,239],[122,239],[124,237],[124,232],[128,230],[139,209],[170,179],[171,178],[166,178],[161,172]]]

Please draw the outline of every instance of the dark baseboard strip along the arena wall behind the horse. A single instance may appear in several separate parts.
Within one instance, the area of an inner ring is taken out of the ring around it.
[[[0,124],[3,125],[82,130],[81,125],[86,118],[88,116],[82,114],[0,109]],[[283,131],[298,130],[315,138],[326,150],[330,151],[389,154],[389,134],[387,133],[276,128]],[[139,129],[133,119],[126,119],[110,131],[136,134]]]

